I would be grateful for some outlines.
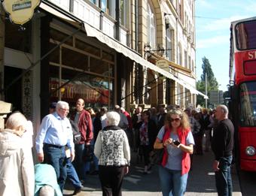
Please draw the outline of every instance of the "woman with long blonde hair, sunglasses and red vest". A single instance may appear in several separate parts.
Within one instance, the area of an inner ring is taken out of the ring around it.
[[[194,138],[187,114],[180,109],[170,110],[154,143],[154,149],[164,149],[159,167],[163,196],[184,195],[193,146]]]

